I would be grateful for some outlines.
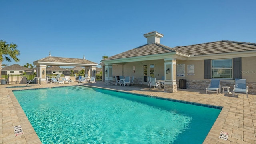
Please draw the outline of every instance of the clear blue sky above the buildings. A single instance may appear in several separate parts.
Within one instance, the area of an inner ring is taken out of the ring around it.
[[[15,43],[20,62],[52,56],[100,63],[164,34],[161,44],[219,40],[256,43],[255,0],[1,0],[0,39]]]

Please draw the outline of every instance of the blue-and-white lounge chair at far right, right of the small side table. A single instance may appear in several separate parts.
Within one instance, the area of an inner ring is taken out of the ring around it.
[[[246,79],[235,79],[235,85],[233,89],[233,97],[236,93],[246,93],[246,98],[248,98],[248,86],[246,86]]]

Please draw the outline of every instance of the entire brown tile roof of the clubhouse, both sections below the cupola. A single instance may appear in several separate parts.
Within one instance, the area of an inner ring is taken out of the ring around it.
[[[256,50],[255,43],[248,42],[235,42],[235,41],[216,41],[216,42],[208,42],[203,44],[194,44],[190,46],[177,46],[174,48],[170,48],[168,46],[164,46],[162,44],[145,44],[143,46],[134,48],[132,50],[128,50],[126,52],[122,52],[120,54],[116,54],[114,56],[110,56],[102,60],[114,60],[120,58],[130,58],[135,56],[147,56],[152,54],[163,54],[168,52],[180,52],[186,55],[206,55],[206,54],[220,54],[220,53],[228,53],[228,52],[243,52],[243,51],[251,51]]]

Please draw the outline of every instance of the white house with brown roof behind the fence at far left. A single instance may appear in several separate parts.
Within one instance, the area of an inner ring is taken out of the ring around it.
[[[26,72],[26,74],[34,74],[34,70],[18,64],[13,64],[11,66],[2,68],[2,74],[23,74],[23,72]]]

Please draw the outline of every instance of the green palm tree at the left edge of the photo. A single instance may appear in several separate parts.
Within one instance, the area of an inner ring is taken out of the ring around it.
[[[20,55],[20,51],[16,49],[17,44],[7,44],[6,41],[0,40],[0,77],[2,75],[2,62],[6,60],[11,62],[13,59],[15,62],[19,62],[20,59],[17,58]]]

